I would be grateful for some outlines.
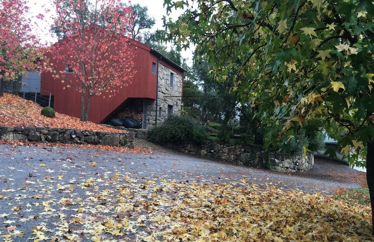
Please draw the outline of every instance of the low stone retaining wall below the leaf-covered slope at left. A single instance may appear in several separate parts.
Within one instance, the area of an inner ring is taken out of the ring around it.
[[[92,144],[132,147],[134,133],[93,132],[74,129],[45,127],[0,127],[1,140],[28,140],[31,142],[50,142],[64,144]]]

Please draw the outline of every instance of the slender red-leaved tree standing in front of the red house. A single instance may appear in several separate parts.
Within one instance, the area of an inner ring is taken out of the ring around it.
[[[92,96],[114,96],[135,74],[134,48],[126,37],[133,14],[119,0],[54,0],[54,4],[53,31],[63,39],[49,54],[65,63],[65,70],[57,71],[53,64],[46,68],[81,93],[81,120],[86,121]]]

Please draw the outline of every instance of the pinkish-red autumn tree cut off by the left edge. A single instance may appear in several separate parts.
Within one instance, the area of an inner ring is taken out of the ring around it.
[[[37,41],[31,34],[28,11],[25,0],[0,0],[0,96],[4,81],[36,67]]]

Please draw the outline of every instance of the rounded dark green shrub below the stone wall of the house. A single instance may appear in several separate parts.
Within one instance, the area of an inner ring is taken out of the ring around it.
[[[156,144],[201,145],[207,139],[204,127],[187,116],[170,116],[165,122],[148,132],[149,141]]]

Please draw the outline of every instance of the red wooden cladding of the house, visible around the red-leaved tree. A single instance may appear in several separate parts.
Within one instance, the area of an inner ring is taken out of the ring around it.
[[[149,46],[131,40],[136,56],[134,69],[136,74],[132,83],[123,87],[114,97],[91,97],[88,120],[99,123],[114,109],[119,107],[127,98],[156,98],[157,76],[152,73],[152,62],[157,63],[158,58],[153,55]],[[56,63],[56,62],[55,62]],[[58,63],[59,70],[65,69],[65,63]],[[74,75],[71,75],[74,80]],[[41,94],[54,96],[54,109],[59,113],[80,117],[81,94],[74,88],[67,88],[67,83],[55,80],[50,72],[42,72]]]

